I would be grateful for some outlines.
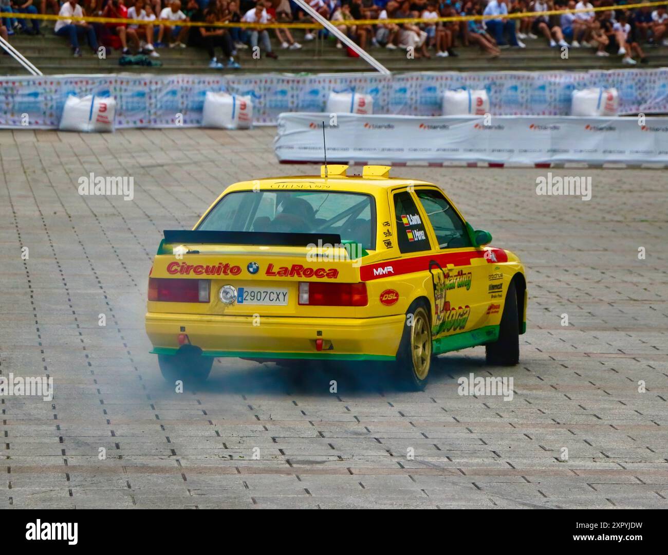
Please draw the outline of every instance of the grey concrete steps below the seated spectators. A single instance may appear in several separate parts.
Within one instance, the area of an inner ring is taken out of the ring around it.
[[[301,31],[295,33],[299,40]],[[81,58],[73,58],[67,42],[62,37],[53,35],[45,29],[44,35],[14,35],[11,43],[32,61],[44,73],[208,73],[220,70],[208,69],[208,59],[202,49],[162,48],[158,51],[162,67],[118,65],[120,51],[108,51],[107,59],[99,59],[83,49]],[[253,59],[250,49],[240,50],[238,61],[242,73],[283,72],[283,73],[321,73],[332,71],[371,71],[371,67],[360,58],[348,57],[345,51],[336,49],[334,41],[303,43],[301,50],[281,49],[273,37],[278,60],[263,57]],[[560,49],[550,49],[542,40],[526,41],[526,49],[508,48],[502,51],[498,59],[474,47],[457,47],[458,57],[437,58],[432,52],[432,59],[407,59],[402,50],[389,51],[385,48],[372,47],[371,55],[392,71],[508,71],[525,69],[527,71],[555,71],[568,69],[584,71],[587,69],[615,69],[622,65],[621,57],[597,57],[592,49],[570,49],[568,59],[560,57]],[[635,67],[659,67],[668,65],[668,48],[648,48],[649,64]],[[0,55],[0,74],[23,75],[25,69],[9,56]]]

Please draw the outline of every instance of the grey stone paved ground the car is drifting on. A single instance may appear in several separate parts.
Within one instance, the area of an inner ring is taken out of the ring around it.
[[[236,180],[319,171],[277,164],[273,132],[0,131],[0,371],[55,380],[50,402],[0,397],[2,508],[668,507],[657,170],[552,170],[591,176],[589,202],[536,196],[547,170],[395,171],[442,184],[523,258],[517,367],[462,351],[402,393],[381,375],[228,360],[174,393],[144,334],[160,232],[190,227]],[[90,172],[134,176],[134,200],[79,196]],[[470,372],[514,377],[514,399],[459,396]]]

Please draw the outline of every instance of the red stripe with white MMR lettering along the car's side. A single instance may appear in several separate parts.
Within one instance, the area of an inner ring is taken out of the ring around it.
[[[427,254],[413,258],[397,258],[396,260],[367,264],[359,268],[359,277],[361,281],[371,281],[385,277],[400,276],[402,274],[411,274],[413,272],[423,272],[429,270],[429,263],[432,260],[436,260],[442,267],[448,264],[470,266],[473,258],[486,258],[490,264],[494,262],[508,262],[508,254],[506,254],[505,250],[491,247],[484,248],[483,250]]]

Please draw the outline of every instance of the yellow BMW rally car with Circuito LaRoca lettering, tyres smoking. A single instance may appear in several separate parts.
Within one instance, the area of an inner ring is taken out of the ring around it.
[[[164,232],[146,332],[167,379],[206,379],[215,357],[381,361],[422,389],[439,353],[518,363],[518,257],[437,186],[346,170],[234,184],[193,230]]]

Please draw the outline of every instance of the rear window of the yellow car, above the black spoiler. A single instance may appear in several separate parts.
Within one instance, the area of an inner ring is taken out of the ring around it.
[[[226,194],[198,230],[337,233],[375,249],[375,203],[367,194],[335,191],[238,191]]]

